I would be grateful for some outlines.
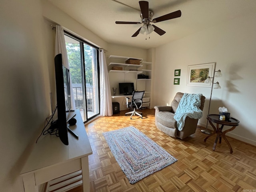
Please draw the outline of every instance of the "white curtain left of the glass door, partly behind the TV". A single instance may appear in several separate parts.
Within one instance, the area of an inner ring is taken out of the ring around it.
[[[58,54],[62,54],[62,64],[69,69],[68,64],[68,54],[66,49],[66,42],[64,37],[64,30],[61,26],[56,25],[56,34],[55,34],[55,56]],[[70,98],[71,98],[71,110],[76,109],[72,80],[70,79]]]

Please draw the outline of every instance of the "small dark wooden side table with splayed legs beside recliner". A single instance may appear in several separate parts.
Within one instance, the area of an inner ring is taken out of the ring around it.
[[[230,153],[233,153],[232,147],[231,147],[230,143],[228,142],[228,140],[227,140],[225,134],[226,134],[227,132],[230,132],[230,131],[234,130],[234,128],[236,128],[236,126],[238,126],[239,121],[238,121],[237,119],[235,119],[235,118],[232,118],[232,117],[229,118],[229,121],[222,121],[222,120],[219,120],[219,115],[217,115],[217,114],[208,114],[208,115],[207,115],[207,119],[208,119],[209,123],[211,124],[211,126],[212,126],[214,132],[213,132],[212,134],[208,135],[208,136],[204,139],[204,142],[206,142],[206,140],[207,140],[210,136],[213,136],[214,134],[217,134],[216,140],[215,140],[215,142],[214,142],[214,145],[213,145],[212,150],[215,150],[215,147],[216,147],[216,144],[217,144],[217,142],[218,142],[218,139],[220,138],[220,143],[221,143],[221,138],[223,137],[224,140],[226,141],[226,143],[228,144],[228,147],[229,147],[229,149],[230,149]],[[216,127],[214,126],[213,122],[216,123]],[[219,127],[219,125],[221,125],[221,127]],[[230,129],[225,130],[224,132],[222,132],[222,129],[223,129],[224,125],[226,125],[226,126],[232,126],[232,128],[230,128]]]

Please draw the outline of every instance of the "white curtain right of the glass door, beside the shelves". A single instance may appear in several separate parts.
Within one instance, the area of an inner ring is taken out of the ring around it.
[[[104,50],[100,52],[100,116],[112,116],[112,99]]]

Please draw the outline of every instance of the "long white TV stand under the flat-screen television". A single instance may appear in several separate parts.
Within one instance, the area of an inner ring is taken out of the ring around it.
[[[79,110],[77,123],[70,126],[79,139],[68,132],[69,145],[64,145],[55,135],[46,135],[35,144],[20,175],[23,178],[25,192],[38,192],[38,186],[52,179],[82,170],[84,192],[90,191],[88,156],[92,148]]]

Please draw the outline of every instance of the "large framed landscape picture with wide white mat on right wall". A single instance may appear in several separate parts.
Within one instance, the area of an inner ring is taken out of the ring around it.
[[[187,86],[211,87],[204,81],[214,76],[214,68],[216,63],[206,63],[188,66]]]

